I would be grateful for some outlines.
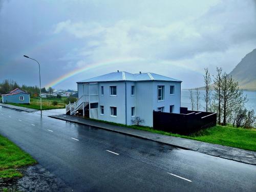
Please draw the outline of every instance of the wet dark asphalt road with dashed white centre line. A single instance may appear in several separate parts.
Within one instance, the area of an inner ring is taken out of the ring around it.
[[[256,191],[256,166],[0,106],[0,134],[74,191]]]

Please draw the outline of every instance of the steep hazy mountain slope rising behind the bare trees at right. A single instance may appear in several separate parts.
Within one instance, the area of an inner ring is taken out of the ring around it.
[[[245,55],[229,75],[239,82],[240,89],[256,90],[256,49]]]

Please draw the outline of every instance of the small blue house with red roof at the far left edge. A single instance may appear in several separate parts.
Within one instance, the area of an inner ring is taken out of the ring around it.
[[[2,95],[3,103],[30,103],[30,95],[19,88]]]

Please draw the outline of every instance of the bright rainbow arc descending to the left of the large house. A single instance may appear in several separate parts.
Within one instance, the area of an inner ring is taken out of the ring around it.
[[[46,84],[46,88],[49,87],[54,87],[57,84],[67,80],[68,78],[77,75],[79,73],[82,72],[86,72],[98,67],[103,67],[103,66],[109,66],[109,65],[113,65],[113,64],[117,64],[117,63],[123,63],[123,62],[131,62],[131,61],[138,61],[141,60],[141,58],[116,58],[116,59],[112,59],[112,60],[107,60],[107,61],[101,61],[101,62],[96,62],[96,63],[90,63],[89,65],[86,65],[82,68],[78,68],[75,69],[65,75],[62,75],[60,77],[58,77],[57,79],[54,79],[53,81],[51,81],[50,83]]]

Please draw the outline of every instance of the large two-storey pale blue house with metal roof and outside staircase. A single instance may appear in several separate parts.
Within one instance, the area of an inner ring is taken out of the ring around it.
[[[180,113],[180,80],[155,73],[114,72],[77,82],[78,101],[68,114],[131,125],[135,116],[153,126],[153,110]]]

